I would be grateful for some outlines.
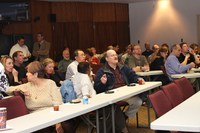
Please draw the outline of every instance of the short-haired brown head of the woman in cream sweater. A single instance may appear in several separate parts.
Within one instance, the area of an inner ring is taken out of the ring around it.
[[[44,77],[44,67],[39,61],[33,61],[27,66],[27,79],[29,82],[35,81],[37,78]]]

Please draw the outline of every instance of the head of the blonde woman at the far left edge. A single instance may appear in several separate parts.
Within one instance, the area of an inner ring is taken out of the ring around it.
[[[1,58],[1,63],[4,66],[6,73],[11,73],[13,70],[13,59],[10,56],[4,56]]]

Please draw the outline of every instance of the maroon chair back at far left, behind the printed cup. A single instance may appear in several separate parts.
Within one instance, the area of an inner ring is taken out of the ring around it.
[[[28,109],[20,96],[0,100],[0,107],[7,108],[7,120],[28,114]]]

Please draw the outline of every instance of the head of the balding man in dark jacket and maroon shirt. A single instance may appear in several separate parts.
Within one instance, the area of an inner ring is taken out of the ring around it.
[[[118,63],[118,56],[115,50],[107,50],[105,57],[109,65],[116,65]]]

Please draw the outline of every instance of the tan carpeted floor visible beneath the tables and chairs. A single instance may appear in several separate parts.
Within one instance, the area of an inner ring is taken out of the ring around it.
[[[153,109],[150,110],[151,114],[151,121],[155,119],[155,113]],[[139,110],[139,125],[140,126],[147,126],[147,107],[142,106]],[[137,128],[136,126],[136,117],[134,119],[128,119],[127,120],[127,127],[130,133],[154,133],[153,130],[150,130],[149,128]],[[94,131],[95,132],[95,131]],[[85,123],[81,123],[76,131],[76,133],[87,133],[87,125]]]

